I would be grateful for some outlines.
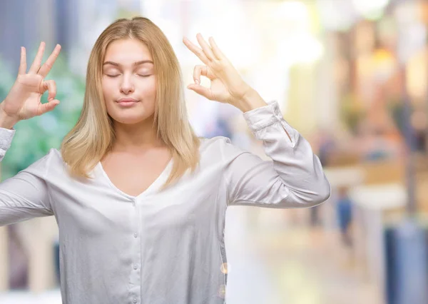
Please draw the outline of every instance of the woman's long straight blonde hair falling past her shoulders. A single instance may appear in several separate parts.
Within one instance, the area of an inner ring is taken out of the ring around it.
[[[188,168],[195,171],[200,140],[188,121],[183,78],[173,48],[161,29],[141,16],[114,21],[96,40],[88,61],[81,115],[76,126],[63,138],[61,156],[72,176],[90,178],[88,171],[111,151],[115,131],[106,111],[101,77],[106,49],[118,39],[138,39],[148,46],[153,56],[157,83],[153,127],[173,158],[173,168],[163,189],[183,176]]]

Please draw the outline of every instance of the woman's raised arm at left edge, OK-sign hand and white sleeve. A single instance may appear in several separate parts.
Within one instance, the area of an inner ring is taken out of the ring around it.
[[[26,71],[26,49],[21,47],[21,62],[14,85],[3,102],[0,103],[0,161],[11,146],[14,125],[23,119],[40,116],[58,105],[55,81],[44,78],[58,57],[61,46],[57,45],[41,64],[45,44],[42,42],[29,71]],[[48,102],[41,103],[41,96],[49,91]],[[53,214],[46,174],[52,153],[36,161],[16,176],[0,183],[0,226],[24,221],[36,216]]]

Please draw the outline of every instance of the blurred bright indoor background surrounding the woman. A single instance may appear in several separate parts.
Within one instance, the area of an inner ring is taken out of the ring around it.
[[[40,41],[45,60],[62,46],[47,77],[61,104],[16,124],[2,180],[59,148],[96,38],[136,15],[168,36],[186,85],[200,62],[183,36],[213,36],[245,81],[280,103],[332,184],[315,208],[228,209],[228,303],[428,303],[428,1],[0,0],[0,100],[20,46],[29,62]],[[266,158],[239,110],[190,90],[186,100],[199,136]],[[61,303],[57,236],[53,217],[0,228],[1,304]]]

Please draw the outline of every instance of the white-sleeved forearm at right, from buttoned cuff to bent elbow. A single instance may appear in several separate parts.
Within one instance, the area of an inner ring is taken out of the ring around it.
[[[244,117],[255,138],[263,141],[282,184],[290,190],[285,205],[315,206],[330,196],[330,183],[319,158],[310,143],[282,118],[277,102],[244,113]]]

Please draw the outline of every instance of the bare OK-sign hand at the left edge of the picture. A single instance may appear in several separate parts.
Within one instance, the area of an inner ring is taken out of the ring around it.
[[[42,41],[37,51],[36,58],[31,65],[29,72],[26,72],[26,50],[21,47],[21,63],[19,64],[19,73],[11,91],[0,103],[0,117],[4,121],[14,121],[14,123],[29,119],[34,116],[40,116],[46,112],[52,111],[59,101],[55,99],[56,84],[53,80],[44,80],[46,75],[52,69],[61,46],[56,45],[51,56],[41,65],[41,59],[45,49],[45,43]],[[48,91],[48,102],[41,103],[41,96]]]

